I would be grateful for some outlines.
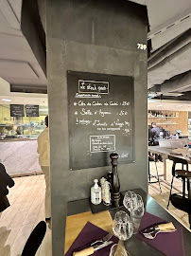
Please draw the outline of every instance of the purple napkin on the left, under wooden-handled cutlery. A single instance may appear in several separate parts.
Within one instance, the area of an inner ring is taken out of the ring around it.
[[[96,227],[94,224],[88,222],[85,227],[78,234],[77,239],[72,244],[72,246],[68,249],[65,256],[72,256],[74,251],[78,251],[84,249],[85,247],[90,247],[92,243],[96,240],[100,240],[108,234],[107,231]],[[118,238],[113,236],[110,241],[113,241],[113,244],[108,247],[104,247],[102,249],[96,250],[94,256],[108,256],[110,254],[110,249],[114,244],[118,243]],[[99,243],[100,245],[100,243]]]

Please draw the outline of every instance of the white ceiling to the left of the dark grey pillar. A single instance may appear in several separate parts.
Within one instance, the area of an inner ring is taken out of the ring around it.
[[[0,77],[11,84],[47,84],[21,31],[22,0],[0,0]]]

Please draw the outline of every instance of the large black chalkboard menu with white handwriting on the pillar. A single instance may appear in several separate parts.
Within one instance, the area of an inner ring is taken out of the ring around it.
[[[134,80],[128,76],[68,71],[70,169],[134,161]]]

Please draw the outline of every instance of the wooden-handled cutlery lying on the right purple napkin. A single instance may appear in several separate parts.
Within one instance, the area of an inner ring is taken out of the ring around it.
[[[160,232],[174,232],[174,231],[176,231],[176,229],[172,224],[172,222],[170,222],[170,223],[155,225],[153,227],[150,227],[148,229],[141,231],[141,233],[148,239],[154,239],[156,235]]]

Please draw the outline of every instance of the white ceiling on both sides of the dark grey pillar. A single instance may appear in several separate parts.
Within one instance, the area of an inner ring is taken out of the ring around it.
[[[45,1],[38,2],[45,25]],[[152,51],[165,46],[191,27],[191,0],[132,2],[148,7],[148,38],[151,39]],[[43,70],[20,29],[21,9],[22,0],[0,0],[0,76],[12,84],[46,85]],[[159,64],[148,69],[148,88],[188,70],[191,70],[191,39],[181,50],[176,49],[173,54],[165,56]],[[188,84],[191,82],[188,81]]]

